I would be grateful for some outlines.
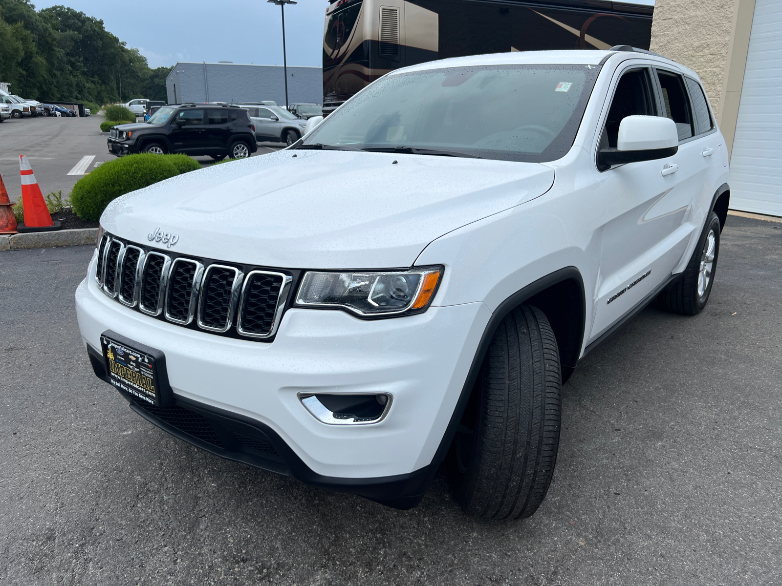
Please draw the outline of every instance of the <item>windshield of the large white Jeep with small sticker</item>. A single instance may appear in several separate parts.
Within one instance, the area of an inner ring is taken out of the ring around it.
[[[304,145],[559,159],[576,138],[599,71],[525,65],[392,73],[328,116]]]

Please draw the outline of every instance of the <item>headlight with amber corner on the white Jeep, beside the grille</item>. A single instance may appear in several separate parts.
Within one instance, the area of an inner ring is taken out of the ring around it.
[[[296,306],[346,309],[362,317],[421,313],[432,302],[442,275],[442,266],[371,272],[308,271],[296,294]]]

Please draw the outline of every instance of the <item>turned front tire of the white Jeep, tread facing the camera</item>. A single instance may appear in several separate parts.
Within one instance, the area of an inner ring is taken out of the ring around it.
[[[471,402],[451,452],[457,500],[476,517],[532,516],[554,475],[561,420],[559,351],[540,309],[504,317]]]

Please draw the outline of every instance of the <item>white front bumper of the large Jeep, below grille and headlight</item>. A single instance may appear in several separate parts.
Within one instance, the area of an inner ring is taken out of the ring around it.
[[[246,341],[127,309],[99,291],[95,259],[76,305],[93,352],[106,330],[159,349],[180,406],[256,427],[283,461],[274,470],[228,448],[221,456],[382,500],[411,495],[373,496],[361,486],[404,481],[407,488],[394,488],[404,493],[412,490],[411,477],[429,478],[436,468],[432,460],[490,316],[481,302],[372,321],[342,311],[289,309],[273,342]],[[298,396],[378,392],[393,395],[388,415],[359,426],[321,423]]]

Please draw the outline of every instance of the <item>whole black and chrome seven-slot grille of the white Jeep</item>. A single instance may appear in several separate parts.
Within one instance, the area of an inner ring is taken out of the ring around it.
[[[249,267],[252,269],[252,267]],[[267,341],[277,332],[292,276],[177,256],[104,234],[95,280],[131,309],[214,334]]]

